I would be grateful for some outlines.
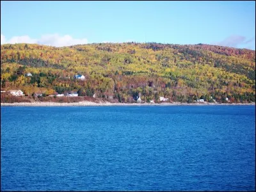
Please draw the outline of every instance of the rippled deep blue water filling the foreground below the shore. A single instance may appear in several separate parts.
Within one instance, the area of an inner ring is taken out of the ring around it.
[[[255,106],[1,106],[1,191],[254,191]]]

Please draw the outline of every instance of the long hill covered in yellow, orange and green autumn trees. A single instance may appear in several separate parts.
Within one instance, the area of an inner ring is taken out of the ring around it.
[[[30,72],[32,77],[26,77]],[[74,79],[76,74],[86,81]],[[255,51],[216,45],[1,45],[1,90],[26,95],[77,91],[81,96],[193,102],[255,102]],[[212,99],[211,99],[212,97]]]

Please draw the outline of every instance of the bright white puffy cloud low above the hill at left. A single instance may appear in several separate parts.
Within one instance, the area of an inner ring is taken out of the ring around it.
[[[87,44],[88,40],[86,38],[73,38],[70,35],[60,36],[56,34],[42,35],[39,39],[30,38],[28,35],[24,36],[13,36],[10,40],[1,34],[1,44],[41,44],[41,45],[51,45],[55,47],[63,47],[77,44]]]

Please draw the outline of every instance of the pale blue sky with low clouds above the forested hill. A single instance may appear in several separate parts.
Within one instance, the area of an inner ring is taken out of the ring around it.
[[[255,50],[255,1],[1,1],[1,44],[104,42]]]

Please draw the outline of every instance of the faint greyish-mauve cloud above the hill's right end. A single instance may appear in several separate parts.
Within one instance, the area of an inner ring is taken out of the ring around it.
[[[227,38],[225,38],[221,42],[214,42],[212,44],[227,46],[227,47],[238,47],[239,45],[250,44],[252,42],[254,42],[254,44],[255,44],[255,36],[253,38],[250,38],[249,40],[246,40],[245,36],[231,35],[231,36],[228,36]]]

